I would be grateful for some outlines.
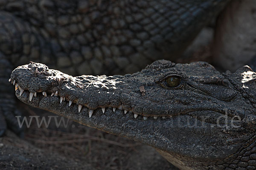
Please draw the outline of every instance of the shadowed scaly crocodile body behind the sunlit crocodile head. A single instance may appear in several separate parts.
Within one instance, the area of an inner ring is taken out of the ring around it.
[[[7,80],[29,61],[73,76],[140,71],[174,59],[230,0],[1,0],[0,136],[16,133]],[[5,117],[5,118],[4,118]]]

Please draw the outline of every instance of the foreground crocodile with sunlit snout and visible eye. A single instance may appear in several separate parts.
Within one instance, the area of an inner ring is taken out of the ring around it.
[[[20,101],[152,146],[181,170],[256,169],[249,66],[220,73],[207,62],[157,60],[134,74],[72,77],[31,62],[9,81]]]

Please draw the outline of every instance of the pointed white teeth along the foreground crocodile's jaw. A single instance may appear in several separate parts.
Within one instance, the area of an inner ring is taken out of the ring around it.
[[[11,81],[12,81],[12,79],[9,79],[9,82],[11,82]],[[16,83],[15,80],[12,82],[12,84],[15,85],[15,91],[17,91],[17,89],[20,90],[20,96],[21,96],[23,94],[24,90],[18,85],[18,83]],[[43,91],[42,94],[43,94],[44,97],[47,97],[47,93],[45,91]],[[29,101],[31,102],[33,97],[36,97],[36,96],[37,96],[36,92],[35,93],[29,92]],[[58,96],[58,91],[52,92],[51,97],[52,96],[57,97]],[[63,101],[65,101],[65,97],[61,97],[60,103],[62,103]],[[72,103],[73,103],[73,101],[70,100],[69,101],[69,106],[71,106]],[[78,105],[78,113],[80,113],[82,107],[83,107],[82,105]],[[109,107],[109,108],[111,108],[111,107]],[[105,113],[106,108],[101,108],[101,109],[102,109],[102,112]],[[122,105],[120,105],[117,109],[123,110]],[[115,111],[116,111],[116,108],[113,108],[113,112],[115,112]],[[128,113],[128,112],[132,113],[132,111],[124,110],[125,114]],[[91,117],[92,115],[93,115],[93,110],[89,109],[89,117]],[[134,113],[134,118],[136,119],[137,117],[138,117],[138,114]],[[162,116],[162,118],[165,119],[166,116]],[[148,117],[143,116],[143,119],[147,120]],[[157,119],[157,116],[154,116],[154,119]]]

